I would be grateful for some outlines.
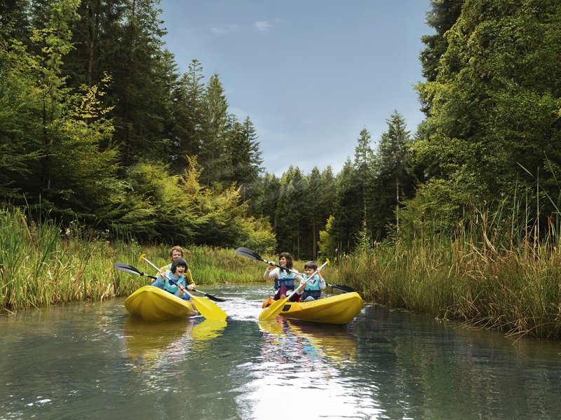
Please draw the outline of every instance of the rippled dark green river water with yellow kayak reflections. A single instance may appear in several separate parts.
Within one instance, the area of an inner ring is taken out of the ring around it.
[[[560,419],[561,344],[367,304],[259,323],[264,283],[206,287],[227,321],[123,299],[0,317],[0,419]]]

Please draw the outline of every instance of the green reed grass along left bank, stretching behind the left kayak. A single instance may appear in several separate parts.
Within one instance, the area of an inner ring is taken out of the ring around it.
[[[141,253],[158,267],[169,262],[169,246],[140,246],[125,235],[109,241],[109,234],[89,232],[77,223],[63,232],[53,221],[30,221],[17,208],[0,210],[0,232],[0,313],[126,296],[152,280],[119,272],[113,262],[152,275],[157,272],[139,262]],[[187,248],[185,256],[198,284],[262,280],[259,263],[234,250],[196,246]]]

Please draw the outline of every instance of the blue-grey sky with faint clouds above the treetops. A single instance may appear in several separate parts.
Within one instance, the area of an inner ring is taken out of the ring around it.
[[[182,73],[217,73],[229,113],[250,117],[262,166],[282,176],[353,160],[360,131],[376,148],[398,111],[424,119],[414,85],[430,0],[162,0],[165,47]]]

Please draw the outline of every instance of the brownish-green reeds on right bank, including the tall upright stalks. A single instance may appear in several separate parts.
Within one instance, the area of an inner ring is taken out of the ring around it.
[[[391,241],[343,258],[334,275],[389,307],[516,337],[561,339],[558,212],[542,218],[535,208],[527,195],[494,210],[473,206],[452,235],[437,224],[402,226]]]

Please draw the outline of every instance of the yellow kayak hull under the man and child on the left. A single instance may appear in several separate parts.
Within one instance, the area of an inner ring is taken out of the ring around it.
[[[187,318],[198,313],[189,300],[155,286],[143,286],[136,290],[126,298],[125,307],[129,314],[141,316],[146,321]]]

